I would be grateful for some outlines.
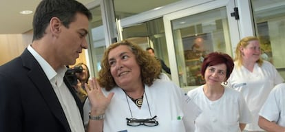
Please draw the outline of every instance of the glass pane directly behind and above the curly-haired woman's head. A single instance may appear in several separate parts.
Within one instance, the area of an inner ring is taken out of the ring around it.
[[[162,18],[124,28],[123,39],[140,45],[142,49],[153,47],[156,57],[165,61],[165,64],[169,66],[165,28]],[[162,70],[162,72],[165,71]],[[169,74],[167,75],[170,77]]]

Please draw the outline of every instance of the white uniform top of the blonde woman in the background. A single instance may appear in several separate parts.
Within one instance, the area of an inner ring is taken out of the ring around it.
[[[253,115],[253,122],[246,124],[246,131],[263,131],[258,126],[258,112],[264,104],[271,89],[284,79],[277,72],[275,67],[268,61],[264,61],[262,66],[255,63],[253,72],[250,72],[243,65],[235,67],[228,79],[228,86],[240,91],[248,104],[249,110]]]

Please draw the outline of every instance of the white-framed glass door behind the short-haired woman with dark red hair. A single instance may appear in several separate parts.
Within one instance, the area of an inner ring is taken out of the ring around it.
[[[210,52],[233,56],[232,43],[240,39],[233,8],[234,1],[211,1],[165,15],[171,77],[180,87],[204,84],[200,68]]]

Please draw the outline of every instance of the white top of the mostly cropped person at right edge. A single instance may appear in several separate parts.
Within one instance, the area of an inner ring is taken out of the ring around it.
[[[285,84],[276,85],[260,110],[260,115],[270,122],[285,127]]]

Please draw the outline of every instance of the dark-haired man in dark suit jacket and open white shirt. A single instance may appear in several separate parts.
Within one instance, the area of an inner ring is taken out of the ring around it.
[[[78,1],[39,3],[32,44],[0,66],[0,131],[85,131],[83,106],[64,74],[87,49],[91,19]]]

